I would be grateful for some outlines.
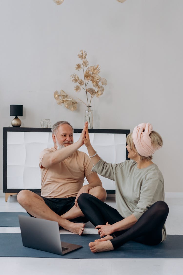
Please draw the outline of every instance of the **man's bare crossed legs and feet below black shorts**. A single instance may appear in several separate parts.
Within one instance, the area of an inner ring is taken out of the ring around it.
[[[91,194],[98,194],[98,197],[103,200],[106,198],[106,191],[100,186],[94,187],[89,190]],[[52,211],[44,202],[43,198],[38,196],[29,190],[22,190],[17,195],[17,200],[19,204],[32,216],[40,219],[47,219],[50,221],[57,221],[59,226],[62,226],[64,229],[71,231],[72,233],[82,235],[85,224],[84,223],[74,223],[69,221],[69,219],[74,219],[80,216],[83,216],[79,206],[72,207],[64,215],[59,216],[54,211]]]

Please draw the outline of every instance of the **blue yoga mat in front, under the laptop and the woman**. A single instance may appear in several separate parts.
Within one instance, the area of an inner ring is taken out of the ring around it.
[[[1,257],[41,257],[41,258],[70,258],[70,259],[97,259],[97,258],[183,258],[183,235],[167,235],[166,241],[156,246],[147,246],[129,241],[114,251],[92,253],[88,243],[94,241],[98,235],[61,234],[62,241],[80,244],[83,247],[60,256],[57,254],[27,248],[22,245],[21,234],[0,233]]]

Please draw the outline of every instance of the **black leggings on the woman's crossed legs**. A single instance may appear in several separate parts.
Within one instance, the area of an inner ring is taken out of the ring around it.
[[[94,226],[106,224],[106,222],[114,224],[124,219],[116,209],[87,193],[79,196],[78,205]],[[131,228],[114,232],[117,237],[110,240],[114,249],[129,240],[148,245],[161,243],[162,228],[168,211],[168,205],[164,201],[155,202]]]

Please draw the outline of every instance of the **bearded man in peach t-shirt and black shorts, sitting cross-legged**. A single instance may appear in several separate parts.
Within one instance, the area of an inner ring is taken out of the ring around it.
[[[69,220],[84,216],[77,199],[82,193],[89,193],[98,199],[106,199],[106,191],[88,155],[77,151],[84,142],[85,128],[74,143],[73,127],[66,121],[59,121],[52,127],[54,147],[44,149],[40,154],[41,196],[29,190],[18,193],[19,204],[30,216],[57,221],[59,226],[82,235],[84,223]],[[83,186],[86,177],[88,184]]]

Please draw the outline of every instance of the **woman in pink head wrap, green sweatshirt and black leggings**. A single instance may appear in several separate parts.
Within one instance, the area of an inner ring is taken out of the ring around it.
[[[87,193],[78,198],[81,211],[101,237],[89,243],[90,250],[113,250],[129,240],[148,245],[164,241],[169,209],[164,202],[162,173],[152,162],[153,153],[163,144],[161,136],[150,123],[139,124],[126,138],[130,160],[119,164],[106,163],[97,155],[89,140],[87,123],[83,141],[94,164],[92,171],[116,184],[117,210]]]

